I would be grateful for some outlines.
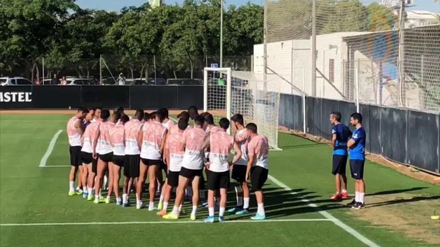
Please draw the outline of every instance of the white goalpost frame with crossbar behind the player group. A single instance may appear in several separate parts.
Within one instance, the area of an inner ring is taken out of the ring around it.
[[[231,84],[232,76],[230,68],[204,68],[203,70],[203,111],[208,111],[208,71],[226,73],[226,118],[231,117]]]

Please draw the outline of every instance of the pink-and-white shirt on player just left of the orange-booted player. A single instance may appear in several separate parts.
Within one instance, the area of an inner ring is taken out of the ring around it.
[[[160,144],[165,137],[166,128],[157,121],[144,123],[142,126],[142,146],[140,158],[160,160]]]

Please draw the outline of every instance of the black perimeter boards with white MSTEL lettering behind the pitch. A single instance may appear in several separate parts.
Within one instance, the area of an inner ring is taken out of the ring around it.
[[[203,108],[203,86],[2,86],[0,109]]]

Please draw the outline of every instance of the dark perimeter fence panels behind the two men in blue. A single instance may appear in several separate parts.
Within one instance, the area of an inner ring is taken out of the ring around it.
[[[349,126],[350,115],[356,112],[352,102],[306,97],[306,132],[331,140],[330,112],[339,111],[341,122]],[[375,105],[359,105],[362,126],[366,131],[366,151],[405,165],[440,174],[439,114]],[[303,131],[302,97],[280,95],[281,126]]]

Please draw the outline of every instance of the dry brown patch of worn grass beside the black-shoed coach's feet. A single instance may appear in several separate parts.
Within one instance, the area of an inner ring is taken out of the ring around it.
[[[440,220],[430,218],[434,210],[440,215],[440,195],[427,197],[398,193],[367,196],[365,200],[366,210],[350,210],[347,214],[416,240],[440,244]]]

